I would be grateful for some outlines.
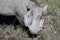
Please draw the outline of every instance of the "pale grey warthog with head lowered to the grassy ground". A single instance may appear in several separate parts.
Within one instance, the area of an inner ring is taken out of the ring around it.
[[[41,19],[48,5],[40,7],[36,0],[0,0],[0,14],[15,15],[20,23],[29,28],[31,34],[38,34],[43,26]]]

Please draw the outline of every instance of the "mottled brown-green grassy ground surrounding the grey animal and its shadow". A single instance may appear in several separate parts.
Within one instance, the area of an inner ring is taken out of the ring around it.
[[[60,40],[60,6],[59,0],[37,0],[38,3],[49,5],[44,15],[45,22],[42,31],[37,37],[28,37],[27,31],[17,25],[0,24],[0,40]],[[56,4],[57,3],[57,4]],[[56,6],[57,5],[57,6]]]

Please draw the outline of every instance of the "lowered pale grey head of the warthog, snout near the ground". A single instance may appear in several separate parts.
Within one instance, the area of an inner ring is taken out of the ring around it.
[[[44,19],[41,19],[42,15],[47,11],[48,5],[40,8],[38,6],[29,9],[28,13],[24,16],[25,25],[28,26],[31,34],[38,34],[44,23]]]

